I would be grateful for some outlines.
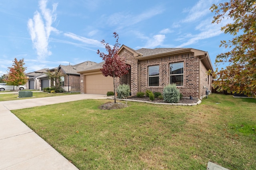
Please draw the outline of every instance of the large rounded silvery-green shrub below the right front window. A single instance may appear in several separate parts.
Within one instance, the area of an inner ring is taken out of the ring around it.
[[[176,84],[169,84],[164,87],[164,101],[169,103],[178,103],[180,101],[180,90],[176,88]]]

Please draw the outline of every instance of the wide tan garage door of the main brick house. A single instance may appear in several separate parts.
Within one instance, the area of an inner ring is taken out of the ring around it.
[[[114,91],[113,77],[92,74],[86,75],[84,80],[85,93],[87,94],[107,94],[108,91]]]

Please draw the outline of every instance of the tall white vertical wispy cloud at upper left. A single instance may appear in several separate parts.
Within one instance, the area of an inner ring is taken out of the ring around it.
[[[58,4],[53,4],[52,10],[49,10],[46,5],[47,0],[41,0],[39,2],[41,13],[36,11],[33,19],[28,20],[30,37],[38,59],[45,59],[52,54],[48,46],[50,33],[59,32],[58,29],[52,27],[52,23],[56,21],[55,11]]]

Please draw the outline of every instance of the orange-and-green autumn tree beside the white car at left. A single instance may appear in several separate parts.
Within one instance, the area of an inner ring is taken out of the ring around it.
[[[9,76],[6,82],[11,86],[16,86],[16,90],[18,86],[26,84],[28,82],[28,78],[25,75],[26,67],[24,67],[24,59],[18,61],[16,58],[13,61],[12,67],[8,67]],[[14,89],[13,89],[14,90]]]

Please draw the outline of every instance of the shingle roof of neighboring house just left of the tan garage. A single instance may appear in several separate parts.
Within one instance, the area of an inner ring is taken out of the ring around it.
[[[66,74],[78,74],[77,73],[78,71],[82,71],[86,68],[89,68],[93,65],[95,65],[97,63],[95,62],[92,62],[92,61],[85,61],[83,63],[79,63],[79,64],[76,64],[76,65],[67,65],[67,66],[63,66],[63,65],[60,65],[60,67],[62,68],[62,70],[64,70],[64,72]]]

